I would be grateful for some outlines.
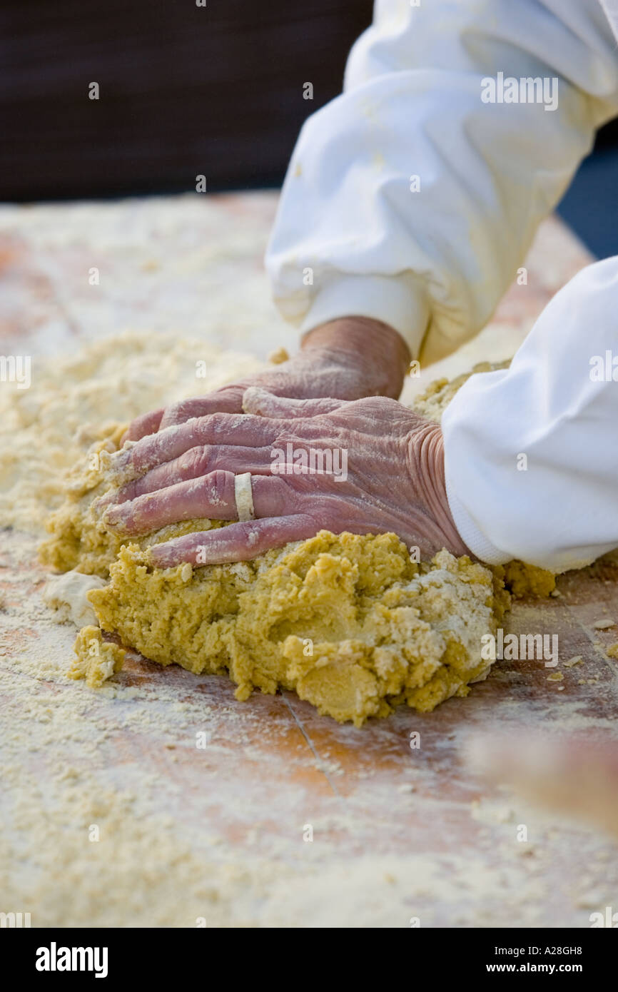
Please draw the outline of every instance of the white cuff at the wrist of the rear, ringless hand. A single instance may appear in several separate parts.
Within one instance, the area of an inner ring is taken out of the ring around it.
[[[415,276],[341,276],[320,289],[301,330],[342,316],[368,316],[397,330],[418,358],[430,308],[427,291]]]

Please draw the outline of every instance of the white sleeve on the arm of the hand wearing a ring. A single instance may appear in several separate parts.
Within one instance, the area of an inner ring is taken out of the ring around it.
[[[564,571],[618,548],[618,256],[556,294],[509,369],[442,417],[446,493],[478,558]]]

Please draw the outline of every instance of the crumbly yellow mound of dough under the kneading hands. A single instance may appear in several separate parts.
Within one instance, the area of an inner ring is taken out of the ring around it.
[[[154,568],[124,547],[88,593],[101,627],[162,665],[227,670],[236,696],[294,689],[360,726],[398,703],[432,710],[484,679],[481,637],[504,592],[489,569],[439,552],[414,562],[394,534],[327,531],[252,562]]]

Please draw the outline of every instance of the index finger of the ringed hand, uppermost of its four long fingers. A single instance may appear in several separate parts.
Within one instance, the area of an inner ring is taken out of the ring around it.
[[[263,447],[272,444],[281,427],[281,421],[248,414],[213,414],[143,437],[134,447],[117,455],[113,472],[120,476],[144,475],[157,465],[204,444]]]

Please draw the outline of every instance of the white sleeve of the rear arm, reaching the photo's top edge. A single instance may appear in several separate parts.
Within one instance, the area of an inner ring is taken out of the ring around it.
[[[545,80],[545,102],[483,102],[492,79],[513,95],[499,73]],[[280,310],[304,330],[373,316],[415,356],[427,329],[422,360],[442,357],[486,323],[617,112],[598,0],[378,0],[292,157],[266,257]]]

